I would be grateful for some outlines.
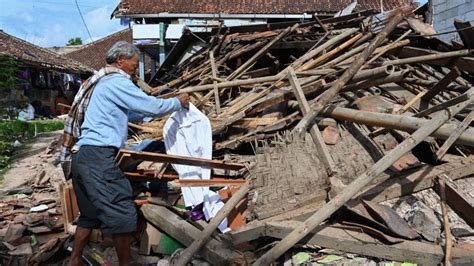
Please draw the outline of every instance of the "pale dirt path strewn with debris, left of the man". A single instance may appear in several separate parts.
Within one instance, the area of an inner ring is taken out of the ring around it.
[[[62,130],[42,133],[37,136],[32,144],[29,144],[29,147],[25,149],[25,151],[20,152],[13,160],[11,169],[0,181],[0,195],[9,190],[22,187],[36,176],[39,167],[43,167],[46,162],[54,160],[55,158],[46,156],[44,151],[54,140],[59,139],[61,134]],[[59,167],[51,165],[51,168],[54,168],[50,169],[51,171],[60,174],[60,172],[58,172],[58,170],[60,170]]]

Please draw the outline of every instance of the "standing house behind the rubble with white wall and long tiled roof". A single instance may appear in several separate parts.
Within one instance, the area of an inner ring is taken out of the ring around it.
[[[122,0],[112,13],[112,17],[128,20],[131,23],[133,41],[142,51],[140,77],[144,79],[145,54],[148,54],[152,60],[159,60],[163,64],[171,48],[182,36],[184,28],[189,29],[189,34],[196,34],[198,32],[210,32],[221,26],[304,21],[315,15],[318,17],[332,17],[344,14],[339,12],[345,8],[350,9],[348,13],[351,13],[352,10],[376,10],[381,12],[402,6],[406,2],[411,3],[412,1]],[[198,37],[198,35],[195,35],[195,37]],[[199,45],[196,45],[195,48],[198,49]],[[151,72],[152,75],[155,74],[154,70]],[[152,81],[155,79],[152,78]]]

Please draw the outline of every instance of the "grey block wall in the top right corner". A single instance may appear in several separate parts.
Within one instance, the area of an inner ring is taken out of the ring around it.
[[[433,22],[437,32],[455,30],[454,19],[471,22],[474,25],[474,0],[431,0]],[[439,36],[444,41],[460,40],[457,33]]]

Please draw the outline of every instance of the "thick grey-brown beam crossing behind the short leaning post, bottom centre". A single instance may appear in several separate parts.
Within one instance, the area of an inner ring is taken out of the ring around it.
[[[146,204],[141,207],[147,221],[176,239],[184,246],[189,246],[200,237],[201,231],[192,226],[166,207]],[[215,265],[242,265],[243,256],[237,251],[227,248],[220,241],[211,238],[201,249],[200,255],[211,264]]]

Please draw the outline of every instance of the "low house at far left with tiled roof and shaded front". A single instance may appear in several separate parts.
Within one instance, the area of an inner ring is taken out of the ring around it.
[[[14,58],[18,66],[18,85],[2,95],[3,101],[22,99],[35,113],[51,117],[65,114],[59,103],[71,104],[83,80],[94,69],[0,30],[0,55]],[[26,97],[26,98],[25,98]]]

